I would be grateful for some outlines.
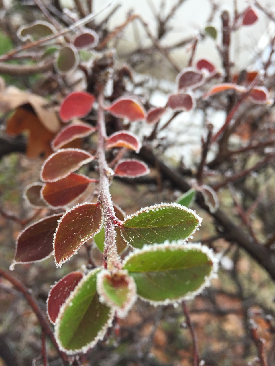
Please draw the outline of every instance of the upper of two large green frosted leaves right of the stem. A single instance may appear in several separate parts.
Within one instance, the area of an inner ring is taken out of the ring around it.
[[[140,249],[144,244],[187,239],[200,224],[195,211],[177,203],[160,203],[126,217],[120,229],[126,242]]]

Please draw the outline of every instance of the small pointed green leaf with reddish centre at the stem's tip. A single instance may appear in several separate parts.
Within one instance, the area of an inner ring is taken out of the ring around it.
[[[136,301],[136,284],[125,270],[102,270],[96,279],[99,301],[116,311],[119,318],[125,318]]]

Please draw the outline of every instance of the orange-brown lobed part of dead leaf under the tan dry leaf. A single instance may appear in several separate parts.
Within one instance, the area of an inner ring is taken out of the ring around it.
[[[19,107],[8,119],[6,132],[9,135],[19,135],[23,131],[29,131],[26,151],[28,157],[37,157],[41,154],[48,157],[52,153],[51,140],[54,133],[43,126],[34,112]]]

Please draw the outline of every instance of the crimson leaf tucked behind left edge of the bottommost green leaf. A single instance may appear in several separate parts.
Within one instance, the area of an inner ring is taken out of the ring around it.
[[[83,279],[81,272],[71,272],[56,283],[49,291],[47,299],[47,314],[49,320],[55,324],[60,307],[69,297],[76,285]]]

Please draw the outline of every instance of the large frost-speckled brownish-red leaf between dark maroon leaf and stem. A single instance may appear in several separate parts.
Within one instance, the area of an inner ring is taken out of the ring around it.
[[[54,238],[55,262],[61,267],[77,253],[87,240],[97,234],[102,224],[102,211],[97,203],[82,203],[61,218]]]

